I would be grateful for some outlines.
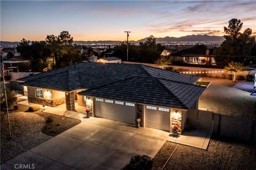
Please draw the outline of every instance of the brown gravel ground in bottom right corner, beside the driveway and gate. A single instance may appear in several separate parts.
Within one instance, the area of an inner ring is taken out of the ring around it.
[[[154,157],[161,169],[177,143],[166,141]],[[256,143],[213,137],[207,150],[178,145],[164,169],[255,169]]]

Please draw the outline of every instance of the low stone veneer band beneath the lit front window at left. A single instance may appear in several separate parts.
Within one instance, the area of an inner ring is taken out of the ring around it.
[[[40,104],[40,105],[45,105],[45,106],[55,107],[55,106],[59,106],[61,104],[66,103],[66,100],[65,100],[65,98],[44,99],[44,98],[28,96],[28,102],[36,103],[36,104]]]

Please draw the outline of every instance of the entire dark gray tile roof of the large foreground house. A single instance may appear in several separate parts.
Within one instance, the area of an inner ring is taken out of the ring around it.
[[[79,94],[186,109],[205,89],[193,85],[198,79],[139,64],[83,62],[18,81],[23,81],[23,86],[62,91],[87,89]]]

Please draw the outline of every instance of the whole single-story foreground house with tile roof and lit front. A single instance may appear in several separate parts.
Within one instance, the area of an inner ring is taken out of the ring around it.
[[[18,81],[31,103],[52,107],[66,103],[73,110],[76,101],[91,108],[92,116],[130,124],[140,118],[142,127],[170,132],[179,124],[181,134],[205,90],[195,85],[198,79],[140,64],[83,62]]]

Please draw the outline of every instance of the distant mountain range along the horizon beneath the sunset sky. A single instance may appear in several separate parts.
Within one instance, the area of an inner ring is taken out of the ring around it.
[[[131,43],[140,43],[146,41],[147,38],[140,39],[138,41],[131,40]],[[209,36],[209,35],[188,35],[183,37],[164,37],[156,38],[157,43],[172,43],[172,42],[222,42],[224,38],[222,36]],[[99,41],[74,41],[75,44],[119,44],[121,41],[112,40],[99,40]],[[0,45],[17,46],[19,42],[0,41]]]

